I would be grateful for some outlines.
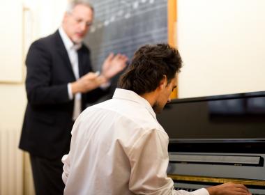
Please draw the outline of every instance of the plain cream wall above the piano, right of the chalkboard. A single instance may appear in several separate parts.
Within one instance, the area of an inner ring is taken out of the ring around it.
[[[178,0],[179,98],[265,90],[264,10],[264,0]]]

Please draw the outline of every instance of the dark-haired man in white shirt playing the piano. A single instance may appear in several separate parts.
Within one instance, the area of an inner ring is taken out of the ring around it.
[[[249,194],[231,182],[195,192],[173,189],[169,137],[156,113],[170,101],[181,66],[179,52],[166,44],[135,52],[112,100],[87,108],[75,121],[70,153],[62,159],[66,195]]]

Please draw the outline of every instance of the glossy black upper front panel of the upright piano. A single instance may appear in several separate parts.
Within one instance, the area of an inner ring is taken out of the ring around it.
[[[265,91],[173,100],[157,116],[176,140],[265,139]]]

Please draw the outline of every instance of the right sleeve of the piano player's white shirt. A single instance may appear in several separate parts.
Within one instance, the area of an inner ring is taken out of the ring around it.
[[[206,189],[195,192],[174,190],[174,182],[167,177],[169,157],[168,136],[160,130],[142,135],[128,153],[131,166],[129,189],[135,194],[149,195],[209,195]]]

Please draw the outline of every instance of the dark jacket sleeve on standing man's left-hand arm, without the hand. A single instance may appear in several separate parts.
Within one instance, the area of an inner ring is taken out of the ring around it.
[[[43,42],[33,42],[26,59],[26,89],[31,104],[68,102],[67,84],[51,85],[52,57]]]

